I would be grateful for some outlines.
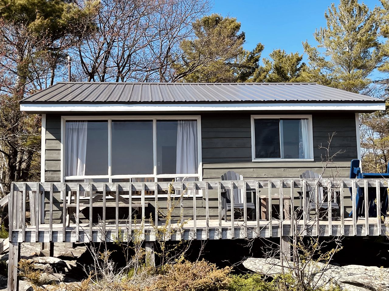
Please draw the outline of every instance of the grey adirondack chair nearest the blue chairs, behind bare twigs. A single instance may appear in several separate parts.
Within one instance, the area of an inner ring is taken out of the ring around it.
[[[318,173],[315,173],[314,171],[305,171],[304,173],[302,173],[300,175],[300,178],[301,179],[316,179],[316,180],[319,180],[321,178],[321,176],[318,174]],[[319,201],[318,201],[318,204],[319,204],[319,210],[326,210],[328,209],[328,199],[327,201],[324,201],[324,189],[323,187],[319,187]],[[298,193],[300,194],[301,197],[303,197],[303,199],[307,199],[307,196],[309,196],[309,201],[308,201],[308,211],[311,211],[312,209],[315,209],[316,208],[316,195],[315,195],[315,191],[314,189],[312,189],[312,187],[310,187],[309,185],[307,185],[307,193],[305,195],[303,195],[303,192],[302,191],[298,191]],[[302,200],[301,200],[302,202]],[[338,201],[337,201],[337,193],[334,192],[333,193],[333,198],[332,198],[332,201],[331,201],[331,209],[334,210],[334,209],[338,209],[339,208],[339,204],[338,204]]]

